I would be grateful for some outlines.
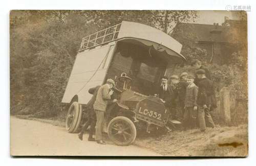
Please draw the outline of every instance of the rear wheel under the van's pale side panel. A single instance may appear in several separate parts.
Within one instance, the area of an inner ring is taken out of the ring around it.
[[[68,110],[66,118],[66,129],[69,133],[76,133],[79,130],[82,118],[82,106],[78,102],[73,102]]]

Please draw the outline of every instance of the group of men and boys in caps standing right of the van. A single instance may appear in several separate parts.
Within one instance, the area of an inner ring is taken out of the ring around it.
[[[191,66],[195,67],[195,75],[182,73],[180,77],[171,76],[161,78],[158,94],[165,107],[177,119],[177,100],[181,109],[184,130],[200,127],[203,132],[206,124],[214,128],[215,124],[210,115],[210,110],[216,107],[214,84],[210,80],[209,70],[202,66],[201,61],[194,60]]]

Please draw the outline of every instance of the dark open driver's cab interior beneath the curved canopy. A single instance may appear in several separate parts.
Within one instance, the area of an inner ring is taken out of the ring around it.
[[[137,40],[122,40],[118,42],[106,78],[115,79],[119,90],[128,88],[149,96],[160,85],[160,77],[164,75],[166,66],[166,60],[159,57],[153,47],[144,46]],[[131,81],[119,79],[124,75]]]

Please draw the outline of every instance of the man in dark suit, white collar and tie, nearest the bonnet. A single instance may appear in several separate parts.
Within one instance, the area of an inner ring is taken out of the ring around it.
[[[172,113],[172,116],[176,116],[175,109],[172,108],[173,102],[173,89],[168,85],[168,78],[166,76],[161,77],[161,85],[158,89],[158,95],[161,101],[164,103],[167,110]]]

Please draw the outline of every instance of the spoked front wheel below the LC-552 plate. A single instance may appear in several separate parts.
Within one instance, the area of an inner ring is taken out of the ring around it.
[[[119,146],[127,146],[136,138],[136,127],[127,117],[117,116],[113,118],[108,126],[109,138]]]

